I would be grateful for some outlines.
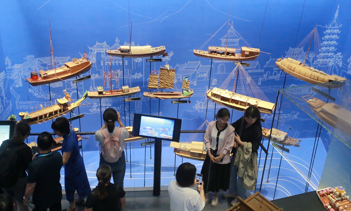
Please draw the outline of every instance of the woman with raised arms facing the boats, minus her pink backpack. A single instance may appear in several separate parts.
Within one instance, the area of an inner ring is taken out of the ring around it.
[[[117,121],[119,126],[121,127],[119,138],[119,146],[121,147],[122,153],[121,157],[117,162],[107,162],[103,157],[102,153],[100,153],[100,165],[108,165],[112,169],[113,183],[118,184],[121,188],[123,188],[123,180],[124,175],[126,173],[126,158],[123,151],[124,140],[129,138],[129,132],[124,127],[119,112],[113,108],[107,108],[104,111],[104,115],[102,115],[102,119],[104,119],[104,125],[102,125],[101,129],[95,133],[95,140],[99,142],[101,147],[101,152],[103,151],[105,136],[102,133],[105,133],[107,136],[114,136],[117,132],[117,127],[115,126],[115,122]]]

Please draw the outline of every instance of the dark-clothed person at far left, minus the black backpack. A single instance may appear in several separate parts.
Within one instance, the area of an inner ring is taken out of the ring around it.
[[[16,160],[16,177],[18,180],[16,184],[9,188],[2,188],[2,191],[9,194],[15,203],[15,210],[17,210],[17,205],[20,211],[28,211],[28,206],[23,204],[23,196],[26,190],[27,184],[27,173],[28,165],[32,162],[32,149],[24,143],[24,141],[31,134],[31,127],[25,123],[20,122],[16,124],[14,129],[14,134],[11,140],[3,141],[1,147],[11,147],[14,149],[19,149],[17,153]],[[4,145],[4,146],[3,146]]]

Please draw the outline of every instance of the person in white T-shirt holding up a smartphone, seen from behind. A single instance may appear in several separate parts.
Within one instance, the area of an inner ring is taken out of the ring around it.
[[[201,181],[202,175],[196,174],[196,167],[188,162],[181,164],[177,169],[176,180],[172,180],[168,186],[171,211],[201,211],[204,209],[204,183]],[[193,189],[194,186],[197,187],[200,194]]]

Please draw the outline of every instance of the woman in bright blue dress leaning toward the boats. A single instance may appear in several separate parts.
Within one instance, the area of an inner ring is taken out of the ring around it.
[[[62,160],[65,166],[65,191],[69,207],[66,211],[77,211],[76,203],[83,204],[84,198],[91,191],[84,161],[79,153],[77,135],[70,130],[69,122],[65,117],[57,118],[51,128],[55,135],[62,136]],[[77,190],[78,199],[74,200],[74,193]]]

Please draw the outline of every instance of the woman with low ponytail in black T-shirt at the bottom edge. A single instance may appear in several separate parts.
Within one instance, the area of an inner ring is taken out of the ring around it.
[[[101,165],[96,177],[99,180],[98,186],[92,190],[85,203],[84,211],[120,211],[124,210],[126,197],[123,188],[118,184],[110,183],[112,170],[109,165]]]

